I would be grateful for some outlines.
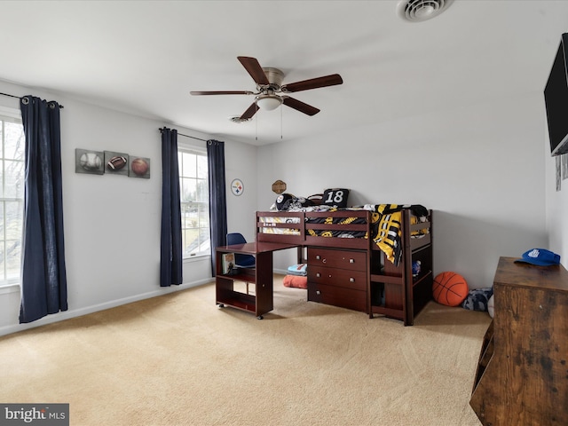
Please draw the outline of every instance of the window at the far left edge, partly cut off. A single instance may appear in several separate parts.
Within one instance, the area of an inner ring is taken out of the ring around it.
[[[0,114],[0,287],[20,283],[24,150],[20,118]]]

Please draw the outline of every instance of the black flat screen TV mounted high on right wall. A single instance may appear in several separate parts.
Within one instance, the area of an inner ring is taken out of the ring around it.
[[[544,88],[548,137],[552,155],[568,153],[568,33],[564,33]]]

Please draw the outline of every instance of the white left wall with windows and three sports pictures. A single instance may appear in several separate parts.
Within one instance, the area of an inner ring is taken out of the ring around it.
[[[0,91],[32,94],[65,106],[61,161],[69,305],[67,312],[20,326],[20,290],[3,290],[0,335],[209,282],[207,257],[185,263],[182,286],[159,287],[162,154],[158,129],[165,125],[196,138],[209,139],[208,135],[15,84],[0,82]],[[0,106],[20,107],[18,99],[4,96]],[[192,138],[180,136],[178,141],[205,147],[205,142]],[[151,178],[75,173],[75,148],[149,157]],[[229,228],[249,223],[245,233],[254,237],[256,146],[225,141],[225,155],[227,188],[235,177],[248,184],[241,197],[227,194]]]

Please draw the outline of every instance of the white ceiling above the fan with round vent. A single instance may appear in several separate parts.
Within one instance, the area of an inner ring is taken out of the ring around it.
[[[455,0],[420,23],[397,4],[4,0],[0,79],[263,145],[541,92],[568,31],[568,1]],[[255,91],[237,56],[284,83],[343,84],[291,95],[321,109],[312,117],[283,106],[234,123],[252,96],[189,92]]]

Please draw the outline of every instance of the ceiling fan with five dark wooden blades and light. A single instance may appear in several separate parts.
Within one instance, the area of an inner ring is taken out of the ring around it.
[[[247,56],[237,57],[242,66],[256,83],[256,91],[191,91],[192,95],[254,95],[255,101],[248,106],[248,109],[241,115],[240,120],[252,118],[256,111],[260,109],[272,110],[281,104],[300,111],[301,113],[314,115],[319,113],[315,106],[290,98],[288,93],[296,91],[308,91],[319,87],[335,86],[342,84],[341,75],[332,74],[323,77],[311,78],[296,83],[282,84],[284,73],[278,68],[263,68],[255,58]]]

